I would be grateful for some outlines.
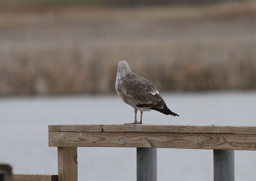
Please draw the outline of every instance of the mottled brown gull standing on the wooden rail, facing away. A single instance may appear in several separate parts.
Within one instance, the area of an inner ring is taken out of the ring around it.
[[[123,102],[134,108],[134,122],[126,124],[142,124],[143,111],[151,111],[151,109],[166,115],[179,116],[166,106],[151,82],[131,72],[125,60],[119,61],[117,64],[116,90]],[[140,111],[139,122],[137,122],[137,110]]]

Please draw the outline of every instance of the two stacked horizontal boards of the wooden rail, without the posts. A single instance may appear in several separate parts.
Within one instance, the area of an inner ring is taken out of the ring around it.
[[[49,146],[256,150],[256,126],[49,125]]]

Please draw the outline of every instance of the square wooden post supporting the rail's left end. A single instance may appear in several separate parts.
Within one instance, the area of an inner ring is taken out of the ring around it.
[[[77,147],[58,147],[59,181],[77,181]]]

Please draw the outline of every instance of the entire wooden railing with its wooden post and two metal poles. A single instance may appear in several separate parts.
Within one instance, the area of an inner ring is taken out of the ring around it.
[[[233,150],[256,150],[256,127],[49,125],[49,146],[58,147],[59,181],[77,181],[77,147],[137,147],[137,181],[156,180],[157,148],[212,149],[214,181],[234,181]]]

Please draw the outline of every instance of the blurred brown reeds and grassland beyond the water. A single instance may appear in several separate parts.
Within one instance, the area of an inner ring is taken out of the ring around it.
[[[1,0],[0,95],[255,90],[254,0]]]

